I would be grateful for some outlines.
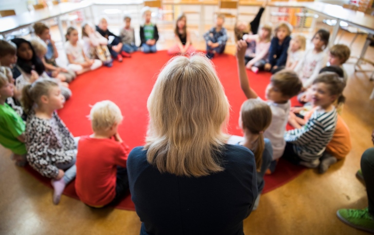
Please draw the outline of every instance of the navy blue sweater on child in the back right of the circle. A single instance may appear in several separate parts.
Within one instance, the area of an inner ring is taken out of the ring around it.
[[[269,49],[269,64],[271,67],[273,66],[285,66],[287,62],[287,51],[288,47],[290,46],[290,36],[286,36],[284,38],[283,43],[279,45],[279,39],[277,37],[273,37],[270,43]]]

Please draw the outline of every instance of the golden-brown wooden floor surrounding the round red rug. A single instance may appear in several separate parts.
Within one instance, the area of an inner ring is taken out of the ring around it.
[[[342,42],[349,44],[352,35]],[[160,41],[167,48],[172,41]],[[204,50],[204,41],[194,43]],[[360,38],[352,48],[358,55],[363,45]],[[226,53],[234,53],[228,45]],[[374,48],[367,55],[374,59]],[[355,61],[353,59],[352,61]],[[368,98],[374,83],[370,73],[354,73],[353,64],[344,68],[349,81],[343,119],[351,129],[353,149],[344,161],[332,166],[324,175],[309,169],[295,180],[262,195],[257,211],[244,220],[246,235],[353,235],[365,234],[337,219],[340,208],[367,206],[365,186],[356,179],[363,151],[373,144],[374,101]],[[236,70],[236,69],[234,69]],[[133,211],[93,210],[82,202],[62,196],[59,205],[52,204],[52,190],[45,187],[10,160],[10,152],[0,147],[0,234],[125,234],[138,235],[139,217]],[[235,193],[235,192],[233,192]]]

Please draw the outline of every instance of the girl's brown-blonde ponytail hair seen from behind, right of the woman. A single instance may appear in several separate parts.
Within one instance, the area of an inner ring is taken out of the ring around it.
[[[248,99],[244,101],[241,113],[243,129],[247,129],[252,134],[259,135],[259,138],[257,138],[253,143],[251,150],[255,155],[257,171],[260,171],[262,165],[262,153],[265,149],[263,131],[270,126],[272,116],[271,109],[261,100]]]

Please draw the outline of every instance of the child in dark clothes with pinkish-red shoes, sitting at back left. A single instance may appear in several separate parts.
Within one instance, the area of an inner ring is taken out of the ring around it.
[[[121,42],[121,38],[119,36],[114,35],[111,31],[109,31],[108,21],[106,18],[102,17],[99,19],[99,24],[96,26],[96,31],[108,40],[109,36],[113,37],[113,40],[107,44],[109,52],[111,53],[113,58],[117,59],[119,62],[122,62],[122,56],[131,57],[130,54],[125,52],[125,47]]]

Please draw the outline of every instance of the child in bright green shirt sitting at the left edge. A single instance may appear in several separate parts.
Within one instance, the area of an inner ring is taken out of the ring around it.
[[[2,71],[4,68],[0,67]],[[14,95],[14,85],[0,72],[0,144],[12,151],[16,165],[24,166],[26,162],[25,123],[22,118],[5,101]]]

